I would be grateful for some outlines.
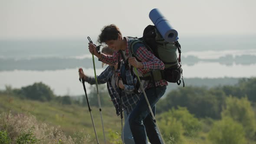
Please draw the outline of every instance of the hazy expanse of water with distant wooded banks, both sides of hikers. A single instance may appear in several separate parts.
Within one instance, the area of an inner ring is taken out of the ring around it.
[[[184,78],[256,76],[256,36],[184,38]],[[43,82],[56,95],[83,95],[78,80],[82,67],[94,75],[92,55],[84,40],[0,41],[0,89]],[[96,73],[104,69],[95,57]],[[88,84],[85,85],[89,87]]]

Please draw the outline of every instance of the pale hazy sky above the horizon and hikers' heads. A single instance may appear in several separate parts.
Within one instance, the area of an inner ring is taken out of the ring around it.
[[[256,0],[0,0],[0,39],[141,36],[159,8],[179,36],[256,34]]]

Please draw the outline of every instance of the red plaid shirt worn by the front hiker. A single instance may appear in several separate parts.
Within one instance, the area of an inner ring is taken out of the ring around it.
[[[128,37],[124,37],[126,39],[126,49],[125,49],[125,56],[129,57],[129,43],[130,39]],[[102,53],[103,54],[103,53]],[[160,59],[154,56],[154,54],[145,46],[141,46],[138,48],[136,54],[137,59],[142,62],[143,69],[138,68],[138,72],[142,74],[146,74],[150,72],[151,70],[157,70],[157,69],[164,69],[164,62],[162,62]],[[102,58],[100,61],[105,62],[107,64],[115,65],[118,63],[119,59],[121,58],[121,54],[119,51],[115,51],[112,56],[109,55],[102,55]],[[166,80],[160,80],[155,81],[155,86],[164,86],[168,85]],[[154,85],[149,82],[147,88],[151,88]]]

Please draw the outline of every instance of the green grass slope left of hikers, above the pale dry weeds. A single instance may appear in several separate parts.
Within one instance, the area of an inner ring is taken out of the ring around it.
[[[111,101],[110,101],[111,102]],[[0,113],[11,111],[13,114],[33,115],[40,122],[51,126],[60,126],[67,135],[83,131],[95,139],[92,120],[88,107],[79,105],[61,105],[54,102],[39,102],[16,98],[10,95],[0,95]],[[95,121],[96,131],[100,142],[104,141],[101,116],[98,108],[92,107],[92,115]],[[120,133],[121,120],[115,114],[115,108],[103,108],[102,117],[106,139],[110,137],[110,130]]]

